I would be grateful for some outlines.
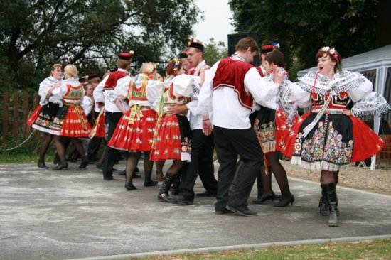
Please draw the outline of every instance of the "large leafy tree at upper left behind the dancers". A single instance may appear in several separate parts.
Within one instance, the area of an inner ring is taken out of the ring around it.
[[[120,51],[160,61],[186,45],[198,12],[192,0],[1,1],[1,87],[36,86],[56,62],[114,69]]]

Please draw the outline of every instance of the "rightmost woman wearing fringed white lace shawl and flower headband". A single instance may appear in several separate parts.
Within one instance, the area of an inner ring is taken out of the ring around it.
[[[363,161],[382,149],[383,141],[357,116],[380,115],[390,105],[372,92],[372,82],[357,72],[342,70],[341,55],[323,47],[316,53],[318,70],[299,78],[287,101],[310,107],[293,126],[282,151],[291,163],[321,170],[322,197],[319,207],[328,225],[338,226],[338,172],[350,162]],[[350,102],[355,102],[351,110]],[[326,214],[325,214],[326,213]]]

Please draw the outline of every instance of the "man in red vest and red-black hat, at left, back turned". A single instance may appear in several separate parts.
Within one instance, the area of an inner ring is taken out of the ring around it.
[[[118,69],[108,77],[105,77],[102,82],[94,90],[94,99],[95,102],[105,102],[105,114],[109,121],[109,130],[107,133],[107,143],[112,138],[115,128],[117,127],[119,119],[122,117],[122,112],[118,107],[113,103],[114,101],[114,89],[117,85],[117,81],[122,77],[128,75],[128,70],[130,69],[130,63],[132,62],[133,51],[129,53],[119,53],[117,59]],[[124,107],[127,107],[128,104],[124,103]],[[127,107],[128,108],[128,107]],[[118,157],[118,151],[114,148],[106,146],[105,148],[105,159],[103,161],[103,180],[113,180],[112,169],[114,166],[114,161]]]

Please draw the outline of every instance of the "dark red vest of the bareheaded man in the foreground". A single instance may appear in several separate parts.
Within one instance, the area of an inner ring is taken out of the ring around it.
[[[218,87],[232,87],[237,93],[239,102],[243,107],[252,109],[252,95],[245,90],[245,75],[254,66],[241,60],[225,58],[220,60],[215,77],[213,78],[213,90]]]

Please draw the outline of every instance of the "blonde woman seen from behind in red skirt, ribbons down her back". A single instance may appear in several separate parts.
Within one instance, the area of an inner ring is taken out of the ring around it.
[[[157,185],[156,181],[151,180],[154,162],[149,160],[157,120],[156,112],[151,105],[159,99],[163,82],[154,80],[155,74],[155,63],[144,63],[138,75],[119,79],[114,90],[113,103],[124,115],[119,119],[107,146],[128,152],[125,169],[127,190],[136,190],[132,183],[132,175],[141,152],[145,153],[144,186]],[[125,99],[129,99],[129,110],[122,104]]]

